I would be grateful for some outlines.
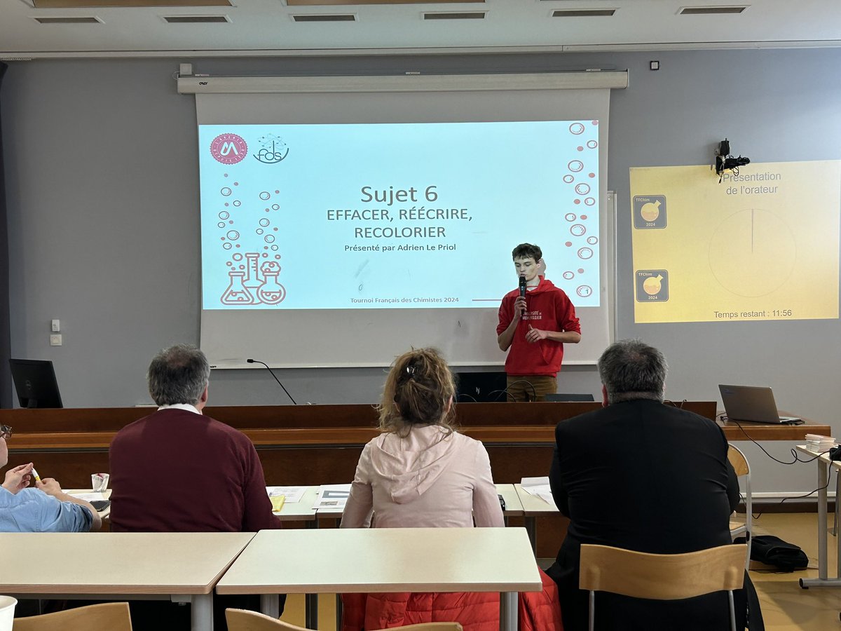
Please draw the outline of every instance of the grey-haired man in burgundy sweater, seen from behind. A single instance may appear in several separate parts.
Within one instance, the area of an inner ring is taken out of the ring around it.
[[[210,367],[177,344],[149,366],[155,413],[111,443],[111,530],[257,532],[280,528],[257,450],[245,434],[204,416]]]

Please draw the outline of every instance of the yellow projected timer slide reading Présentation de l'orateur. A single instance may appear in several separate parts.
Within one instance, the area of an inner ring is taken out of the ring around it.
[[[841,161],[631,169],[637,322],[838,318]]]

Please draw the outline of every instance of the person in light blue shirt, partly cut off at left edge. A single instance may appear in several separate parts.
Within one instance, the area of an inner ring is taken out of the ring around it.
[[[12,428],[0,425],[0,468],[8,463],[6,439]],[[99,529],[102,519],[90,502],[68,496],[52,478],[29,488],[32,463],[6,472],[0,486],[0,533],[82,533]]]

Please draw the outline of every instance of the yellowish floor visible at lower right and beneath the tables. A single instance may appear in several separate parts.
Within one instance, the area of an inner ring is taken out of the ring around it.
[[[829,517],[830,526],[832,515]],[[798,579],[817,576],[817,513],[764,514],[755,521],[756,534],[774,534],[799,545],[809,557],[809,569],[790,574],[769,570],[751,570],[759,598],[765,628],[801,629],[802,631],[827,631],[841,629],[841,587],[812,587],[801,589]],[[835,574],[836,540],[829,537],[829,575]],[[335,598],[324,595],[319,599],[319,628],[332,631],[336,628]],[[304,624],[304,597],[290,595],[283,620]]]

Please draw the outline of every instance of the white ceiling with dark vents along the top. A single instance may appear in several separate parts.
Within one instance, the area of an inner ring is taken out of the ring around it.
[[[29,0],[0,0],[0,58],[841,45],[841,0],[749,0],[748,9],[737,15],[678,14],[682,7],[740,4],[730,0],[485,0],[297,8],[285,0],[234,2],[233,7],[205,8],[35,9]],[[550,17],[561,8],[617,11],[612,17]],[[424,20],[425,11],[484,11],[486,16]],[[357,21],[292,19],[313,13],[353,13]],[[168,24],[163,19],[174,15],[225,15],[230,22]],[[34,19],[82,16],[102,23],[39,24]]]

